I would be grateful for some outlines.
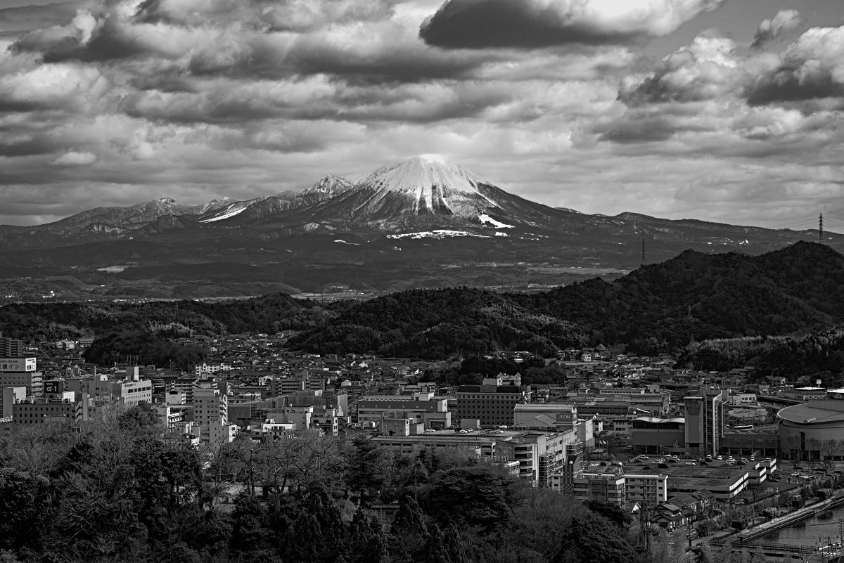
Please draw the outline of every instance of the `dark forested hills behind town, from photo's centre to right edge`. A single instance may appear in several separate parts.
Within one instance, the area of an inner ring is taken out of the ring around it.
[[[693,338],[783,335],[841,320],[844,257],[798,243],[761,256],[687,251],[611,283],[596,278],[538,294],[400,292],[356,304],[295,344],[435,357],[591,341],[656,353]]]

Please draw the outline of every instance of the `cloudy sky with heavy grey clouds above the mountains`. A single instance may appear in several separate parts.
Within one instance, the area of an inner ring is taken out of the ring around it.
[[[841,0],[0,0],[0,223],[422,153],[582,212],[834,222],[842,18]]]

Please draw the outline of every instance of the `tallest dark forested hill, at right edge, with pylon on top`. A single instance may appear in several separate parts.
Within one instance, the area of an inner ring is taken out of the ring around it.
[[[612,283],[593,279],[519,301],[639,351],[684,346],[692,336],[784,335],[844,320],[844,256],[814,243],[760,256],[688,250]]]

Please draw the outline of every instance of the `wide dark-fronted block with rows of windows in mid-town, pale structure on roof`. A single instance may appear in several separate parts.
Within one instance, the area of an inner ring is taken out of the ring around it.
[[[457,421],[477,420],[481,426],[511,426],[516,405],[530,403],[530,388],[503,385],[501,378],[486,378],[480,385],[457,388]],[[506,382],[516,383],[516,382]]]

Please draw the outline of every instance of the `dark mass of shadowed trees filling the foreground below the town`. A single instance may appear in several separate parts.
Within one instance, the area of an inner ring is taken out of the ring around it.
[[[208,469],[149,405],[0,443],[0,560],[35,563],[668,563],[623,517],[538,490],[468,452],[401,456],[297,432],[238,437]],[[376,507],[394,507],[391,524]],[[608,518],[609,517],[609,518]],[[662,545],[662,549],[657,546]]]

